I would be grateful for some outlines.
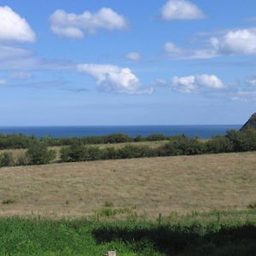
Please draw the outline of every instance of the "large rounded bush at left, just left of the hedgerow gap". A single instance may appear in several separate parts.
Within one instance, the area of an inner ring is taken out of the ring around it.
[[[32,143],[26,151],[28,162],[31,165],[45,165],[56,157],[55,150],[49,150],[45,143]]]

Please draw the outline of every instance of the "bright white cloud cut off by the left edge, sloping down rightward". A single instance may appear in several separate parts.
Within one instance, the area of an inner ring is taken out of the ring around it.
[[[15,41],[32,43],[36,35],[32,28],[8,6],[0,7],[0,41]]]

